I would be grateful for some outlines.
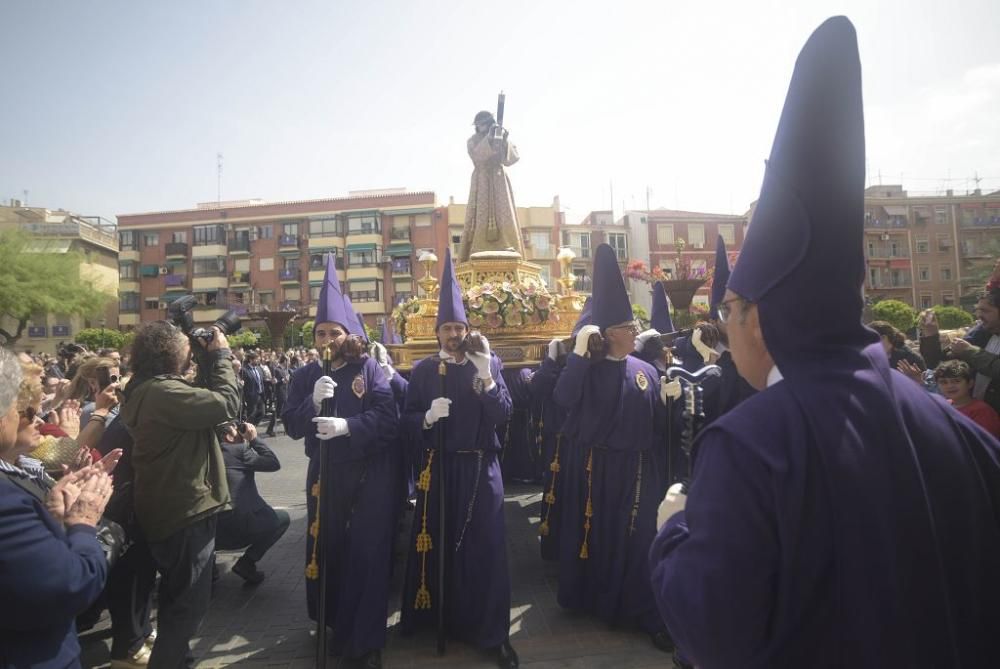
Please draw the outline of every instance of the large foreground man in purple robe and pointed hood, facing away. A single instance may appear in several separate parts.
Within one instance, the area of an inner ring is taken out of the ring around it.
[[[760,392],[701,432],[650,554],[701,669],[997,664],[1000,446],[861,324],[864,161],[857,40],[832,18],[799,55],[718,305]]]

